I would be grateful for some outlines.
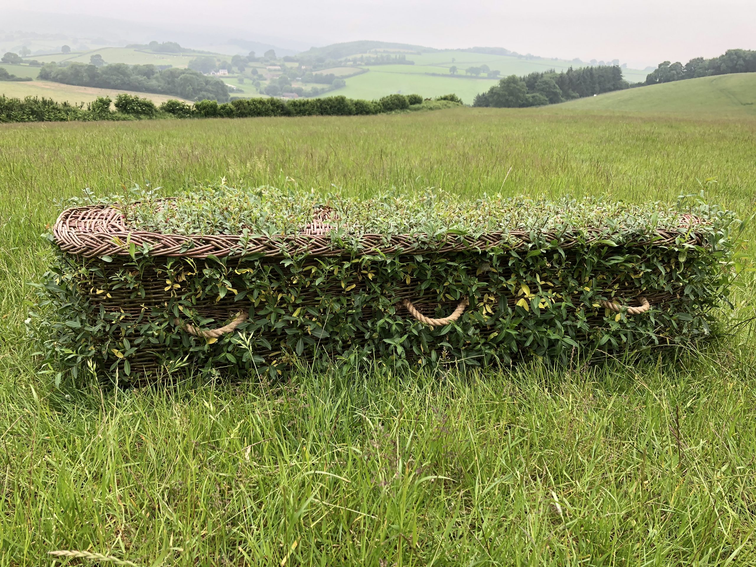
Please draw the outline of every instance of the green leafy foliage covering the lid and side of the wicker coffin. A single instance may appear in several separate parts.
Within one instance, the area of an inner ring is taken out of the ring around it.
[[[464,367],[522,355],[564,361],[576,349],[684,341],[708,334],[711,309],[727,299],[733,230],[739,227],[731,212],[683,201],[677,207],[594,199],[466,201],[430,192],[358,201],[225,186],[168,202],[142,197],[101,202],[122,206],[138,231],[241,234],[241,247],[265,237],[280,242],[281,256],[166,259],[134,243],[123,243],[124,253],[113,258],[83,259],[58,250],[29,321],[48,359],[74,373],[91,360],[135,376],[135,361],[150,352],[169,368],[187,364],[191,355],[206,368],[277,373],[299,357],[378,357],[421,366],[454,361]],[[308,256],[286,249],[285,237],[298,234],[324,206],[333,218],[331,248],[340,253]],[[696,245],[686,243],[691,229],[681,228],[683,212],[702,222]],[[655,246],[660,230],[677,234],[674,242]],[[509,231],[522,231],[529,241]],[[494,232],[503,236],[488,249],[434,252],[449,241]],[[364,234],[386,241],[407,234],[423,250],[367,249]],[[160,290],[165,282],[165,290],[153,297],[150,282],[156,280]],[[109,303],[110,294],[144,302],[141,311],[125,313],[122,305]],[[604,300],[639,295],[655,302],[642,316],[601,307]],[[435,316],[442,317],[465,298],[469,308],[454,324],[428,327],[401,314],[402,297],[425,300],[429,316],[435,305]],[[175,321],[218,327],[225,321],[209,314],[218,309],[249,310],[249,319],[217,341],[188,335]]]

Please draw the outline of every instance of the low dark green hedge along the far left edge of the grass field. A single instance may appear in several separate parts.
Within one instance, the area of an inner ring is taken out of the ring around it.
[[[435,100],[458,104],[462,102],[457,95],[443,95]],[[115,110],[111,109],[111,104]],[[99,97],[86,105],[59,103],[50,98],[26,97],[21,100],[0,95],[0,122],[357,116],[409,110],[418,104],[423,104],[420,95],[388,95],[377,101],[361,101],[342,96],[290,101],[280,98],[240,98],[220,104],[214,100],[197,101],[194,104],[169,100],[159,107],[147,98],[125,93],[118,95],[115,101],[110,97]]]

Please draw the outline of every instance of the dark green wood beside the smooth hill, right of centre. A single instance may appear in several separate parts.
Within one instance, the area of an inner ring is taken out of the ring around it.
[[[590,97],[603,92],[618,91],[630,85],[622,78],[617,65],[611,67],[583,67],[556,73],[530,73],[501,79],[485,93],[476,96],[474,107],[540,107],[573,98]]]

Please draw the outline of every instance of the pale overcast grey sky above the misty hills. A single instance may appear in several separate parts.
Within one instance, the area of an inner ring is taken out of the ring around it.
[[[641,68],[756,48],[756,0],[0,0],[0,28],[3,7],[231,26],[251,40],[485,45],[543,57],[618,58]]]

